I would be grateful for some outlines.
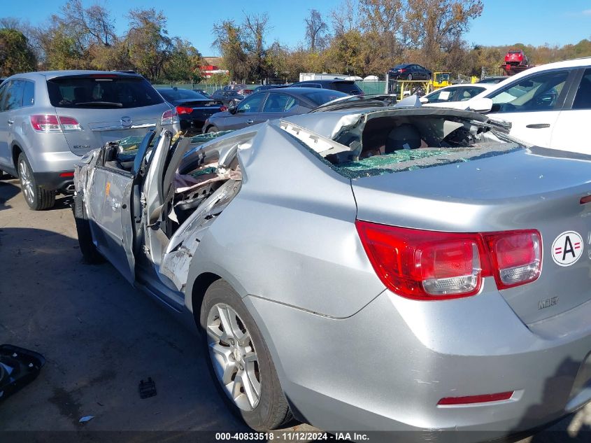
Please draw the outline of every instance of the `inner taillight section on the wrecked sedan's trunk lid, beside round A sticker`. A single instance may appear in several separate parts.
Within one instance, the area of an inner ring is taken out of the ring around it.
[[[536,280],[541,273],[541,237],[534,230],[484,234],[499,289]]]

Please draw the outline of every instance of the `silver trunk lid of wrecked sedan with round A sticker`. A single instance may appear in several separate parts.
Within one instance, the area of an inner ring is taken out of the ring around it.
[[[446,232],[539,230],[539,279],[499,291],[524,323],[534,323],[591,300],[591,203],[581,204],[591,195],[590,171],[591,156],[531,148],[352,184],[360,220]],[[568,266],[553,259],[569,246],[564,232],[582,239]]]

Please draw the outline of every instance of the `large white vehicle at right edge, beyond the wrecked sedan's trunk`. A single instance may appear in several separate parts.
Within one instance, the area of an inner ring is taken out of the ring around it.
[[[534,145],[591,154],[591,57],[527,69],[461,106],[511,122]]]

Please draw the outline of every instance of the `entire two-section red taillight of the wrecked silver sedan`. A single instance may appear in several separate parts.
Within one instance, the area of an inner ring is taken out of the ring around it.
[[[494,274],[499,289],[534,281],[541,269],[537,231],[492,234],[413,230],[357,220],[369,261],[387,288],[414,300],[476,295]]]

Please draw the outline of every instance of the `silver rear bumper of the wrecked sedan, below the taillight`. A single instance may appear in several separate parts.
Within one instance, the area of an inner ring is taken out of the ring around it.
[[[460,430],[451,441],[477,442],[543,426],[591,399],[591,303],[528,328],[498,293],[415,302],[385,291],[341,319],[245,302],[294,411],[323,430],[398,432],[399,440]],[[437,405],[505,391],[515,393]]]

